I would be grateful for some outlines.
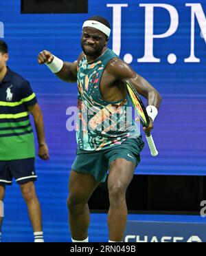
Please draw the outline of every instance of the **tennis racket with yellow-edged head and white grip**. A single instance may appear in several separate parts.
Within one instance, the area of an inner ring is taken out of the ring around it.
[[[126,80],[126,87],[128,90],[128,94],[130,95],[131,102],[133,103],[133,106],[135,107],[135,110],[137,111],[137,114],[141,120],[141,124],[144,127],[148,127],[150,125],[150,118],[147,114],[147,111],[146,111],[146,108],[144,107],[143,102],[141,101],[141,98],[139,97],[139,94],[137,93],[136,89],[133,87],[133,85],[128,80]],[[147,139],[148,145],[150,147],[151,155],[157,156],[158,151],[155,147],[155,142],[152,138],[152,135],[150,133],[147,133],[146,139]]]

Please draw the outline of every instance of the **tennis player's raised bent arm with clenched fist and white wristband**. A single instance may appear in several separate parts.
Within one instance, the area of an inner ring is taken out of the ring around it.
[[[63,81],[69,83],[75,83],[77,81],[78,61],[74,61],[73,63],[62,61],[47,50],[40,52],[37,59],[39,64],[46,64]]]

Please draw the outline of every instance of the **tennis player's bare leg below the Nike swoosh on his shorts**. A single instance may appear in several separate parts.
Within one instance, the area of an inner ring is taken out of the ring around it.
[[[109,240],[122,242],[128,210],[126,206],[126,189],[130,184],[135,164],[119,158],[112,162],[108,175],[108,193],[110,208],[108,211]]]

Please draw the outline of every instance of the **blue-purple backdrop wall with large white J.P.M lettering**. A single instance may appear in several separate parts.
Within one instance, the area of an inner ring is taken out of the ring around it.
[[[36,56],[46,49],[75,61],[81,51],[82,22],[100,14],[113,28],[109,47],[163,96],[153,132],[159,156],[152,158],[146,145],[136,173],[206,175],[205,1],[165,1],[168,6],[157,6],[159,1],[89,0],[89,14],[21,14],[20,2],[1,1],[0,36],[10,47],[8,65],[30,81],[43,109],[51,160],[37,160],[39,173],[69,173],[76,138],[75,131],[66,129],[66,110],[77,105],[77,87],[38,65]]]

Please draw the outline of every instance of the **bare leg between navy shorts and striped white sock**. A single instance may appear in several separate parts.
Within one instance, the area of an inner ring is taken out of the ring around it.
[[[41,207],[36,196],[34,182],[28,182],[20,186],[22,196],[27,204],[33,231],[40,232],[42,231]]]

